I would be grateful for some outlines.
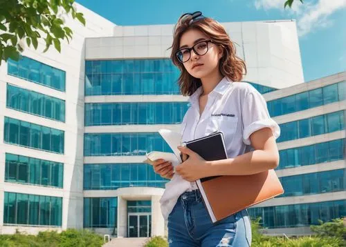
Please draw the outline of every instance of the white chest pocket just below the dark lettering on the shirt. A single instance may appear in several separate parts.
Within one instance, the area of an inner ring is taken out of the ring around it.
[[[206,128],[206,135],[220,131],[224,134],[226,145],[230,145],[237,130],[237,117],[211,116]]]

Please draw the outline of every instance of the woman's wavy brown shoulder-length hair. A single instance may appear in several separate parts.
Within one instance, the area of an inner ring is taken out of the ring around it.
[[[181,36],[184,32],[191,29],[199,30],[206,35],[208,39],[212,40],[212,43],[222,48],[223,56],[219,60],[221,75],[228,77],[232,81],[242,81],[243,76],[246,75],[246,65],[242,59],[235,55],[236,50],[234,43],[230,40],[230,37],[221,23],[214,19],[204,17],[204,19],[189,24],[191,19],[192,17],[184,17],[183,21],[179,19],[174,27],[173,43],[170,47],[172,48],[170,58],[174,65],[181,71],[181,75],[178,79],[181,94],[183,96],[190,96],[202,85],[201,79],[192,77],[183,66],[183,63],[176,58]]]

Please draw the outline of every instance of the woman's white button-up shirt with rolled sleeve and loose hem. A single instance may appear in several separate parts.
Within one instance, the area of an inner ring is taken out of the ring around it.
[[[271,128],[275,139],[280,136],[280,128],[269,116],[266,101],[251,84],[233,82],[224,77],[209,93],[206,107],[200,115],[199,96],[202,90],[199,87],[190,96],[191,107],[181,123],[182,141],[191,141],[221,131],[228,158],[234,158],[251,150],[250,135],[261,128]],[[180,186],[181,190],[178,190],[179,186],[173,184],[179,181],[182,184],[185,180],[174,177],[166,184],[166,190],[170,188],[171,191],[165,191],[161,201],[164,202],[161,203],[161,210],[165,218],[182,192],[197,188],[196,183],[192,182],[190,186],[185,183],[185,187]],[[170,201],[167,201],[168,198]]]

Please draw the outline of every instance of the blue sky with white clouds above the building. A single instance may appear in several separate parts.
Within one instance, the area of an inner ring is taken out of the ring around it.
[[[220,22],[295,19],[304,80],[346,70],[346,0],[77,0],[119,26],[173,24],[201,10]]]

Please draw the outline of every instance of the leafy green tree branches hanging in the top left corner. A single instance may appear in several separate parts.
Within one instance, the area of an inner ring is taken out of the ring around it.
[[[85,26],[81,12],[73,8],[75,0],[0,0],[0,65],[8,58],[18,60],[24,42],[37,49],[38,39],[46,48],[53,44],[60,52],[60,41],[72,39],[72,30],[64,25],[62,14],[71,14]]]

